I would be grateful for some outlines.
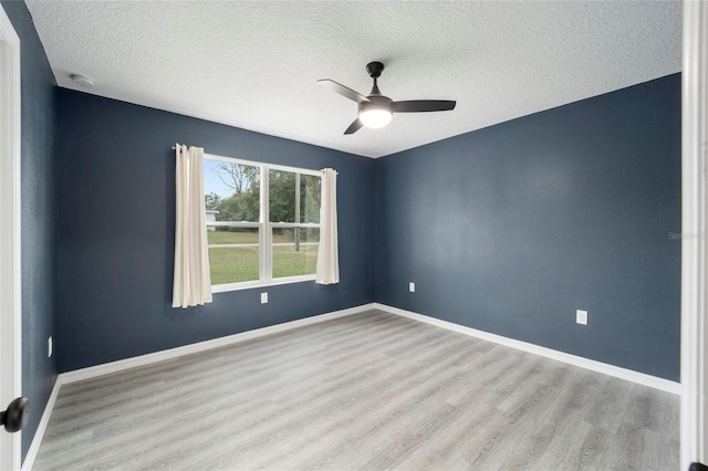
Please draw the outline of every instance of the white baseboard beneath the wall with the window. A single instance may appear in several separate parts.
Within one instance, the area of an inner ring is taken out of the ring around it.
[[[304,325],[316,324],[332,318],[344,317],[374,308],[374,303],[362,304],[361,306],[350,307],[348,310],[335,311],[326,314],[320,314],[312,317],[305,317],[298,321],[275,324],[263,328],[242,332],[226,337],[214,338],[211,341],[198,342],[196,344],[185,345],[181,347],[169,348],[166,350],[155,352],[152,354],[135,356],[132,358],[119,359],[117,362],[104,363],[102,365],[90,366],[87,368],[74,369],[73,371],[62,373],[60,375],[62,384],[81,381],[83,379],[95,378],[97,376],[110,375],[112,373],[122,371],[128,368],[149,365],[165,359],[177,358],[184,355],[205,352],[211,348],[222,347],[225,345],[236,344],[238,342],[249,341],[251,338],[262,337],[263,335],[275,334],[278,332],[289,331]]]

